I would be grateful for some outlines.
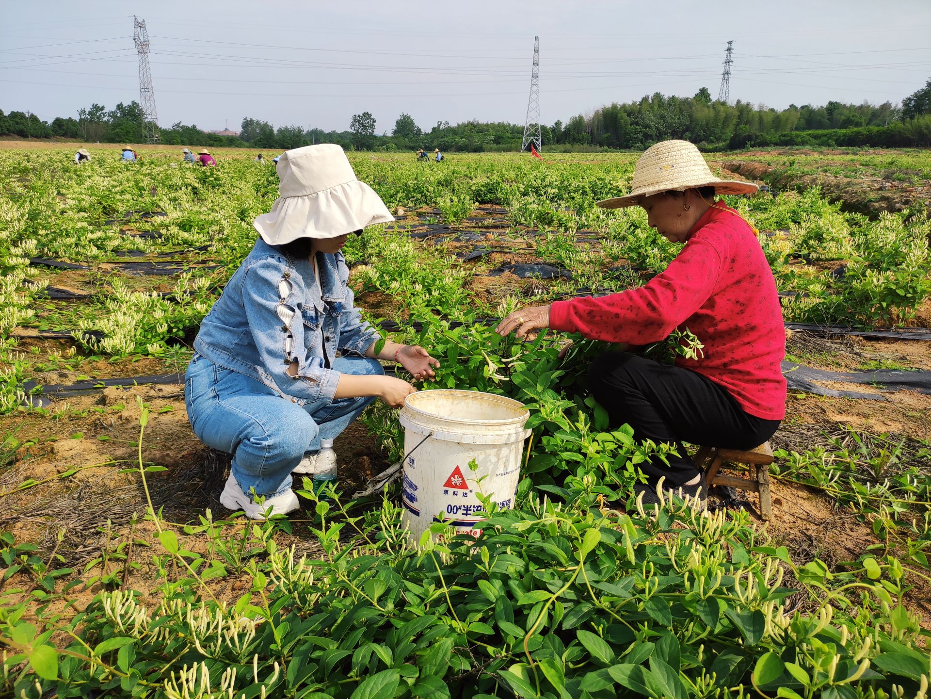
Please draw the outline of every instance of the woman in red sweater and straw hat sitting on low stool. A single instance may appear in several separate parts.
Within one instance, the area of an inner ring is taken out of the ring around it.
[[[656,143],[637,161],[631,194],[599,206],[644,208],[651,228],[685,244],[676,259],[640,289],[525,308],[498,326],[502,335],[552,328],[617,344],[620,351],[592,363],[589,390],[614,426],[628,423],[634,437],[670,442],[679,453],[668,465],[641,464],[647,483],[635,490],[644,502],[655,502],[661,477],[668,489],[706,497],[681,442],[752,449],[786,415],[776,280],[750,225],[714,200],[756,188],[714,177],[688,141]],[[670,366],[627,352],[674,329],[689,329],[704,344],[699,358],[678,356]]]

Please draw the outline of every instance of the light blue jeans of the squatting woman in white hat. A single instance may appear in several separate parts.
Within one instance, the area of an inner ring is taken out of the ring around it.
[[[375,359],[341,356],[344,374],[385,373]],[[321,439],[338,437],[374,397],[307,401],[282,397],[264,383],[195,354],[184,377],[188,420],[213,449],[233,454],[232,472],[245,493],[274,497],[291,486],[291,470]]]

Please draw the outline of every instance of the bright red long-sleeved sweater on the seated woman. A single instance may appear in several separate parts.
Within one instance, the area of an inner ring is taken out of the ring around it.
[[[750,415],[782,420],[786,334],[776,280],[748,223],[722,208],[708,209],[676,259],[645,286],[555,302],[549,325],[630,344],[656,343],[688,328],[705,344],[704,356],[678,356],[676,366],[721,385]]]

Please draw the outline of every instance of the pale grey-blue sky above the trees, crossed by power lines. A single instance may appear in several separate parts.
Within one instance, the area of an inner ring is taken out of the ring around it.
[[[534,35],[546,125],[656,91],[717,97],[729,40],[732,102],[897,104],[931,77],[931,0],[0,0],[0,109],[139,101],[132,13],[162,127],[522,124]]]

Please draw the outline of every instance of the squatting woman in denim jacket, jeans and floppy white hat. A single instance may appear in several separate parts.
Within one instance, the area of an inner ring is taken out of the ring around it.
[[[250,518],[297,509],[291,474],[335,475],[333,439],[376,397],[399,407],[416,390],[378,359],[415,379],[439,367],[423,347],[376,355],[381,338],[353,306],[346,237],[394,219],[343,149],[288,151],[277,172],[280,196],[204,318],[184,385],[197,437],[233,454],[220,502]]]

